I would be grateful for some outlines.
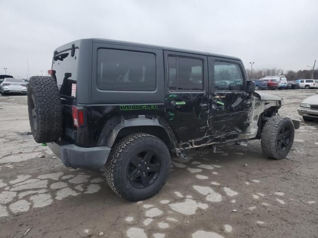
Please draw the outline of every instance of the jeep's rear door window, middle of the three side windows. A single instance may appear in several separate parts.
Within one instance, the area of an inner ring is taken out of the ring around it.
[[[168,57],[169,90],[203,90],[203,61]]]

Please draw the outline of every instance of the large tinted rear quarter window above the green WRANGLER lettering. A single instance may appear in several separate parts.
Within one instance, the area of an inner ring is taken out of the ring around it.
[[[97,87],[101,90],[155,91],[156,57],[151,53],[99,49]]]

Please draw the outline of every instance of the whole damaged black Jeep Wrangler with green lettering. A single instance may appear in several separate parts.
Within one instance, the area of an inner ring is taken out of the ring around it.
[[[54,51],[51,77],[31,77],[33,137],[67,167],[106,167],[115,193],[131,201],[154,196],[170,154],[261,139],[282,159],[300,122],[279,117],[281,99],[255,93],[238,58],[105,39],[83,39]]]

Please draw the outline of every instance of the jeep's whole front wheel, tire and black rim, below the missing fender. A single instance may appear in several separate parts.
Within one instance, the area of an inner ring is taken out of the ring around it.
[[[290,118],[275,116],[263,128],[261,148],[269,158],[280,160],[286,157],[294,142],[295,128]]]

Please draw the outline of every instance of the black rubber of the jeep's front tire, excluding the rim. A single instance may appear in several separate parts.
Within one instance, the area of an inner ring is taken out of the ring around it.
[[[290,140],[285,150],[281,151],[278,149],[277,141],[279,131],[284,126],[289,126],[290,129]],[[274,116],[270,118],[266,123],[261,135],[261,148],[263,153],[269,158],[280,160],[286,157],[288,152],[293,146],[295,135],[295,128],[292,120],[286,117]]]

